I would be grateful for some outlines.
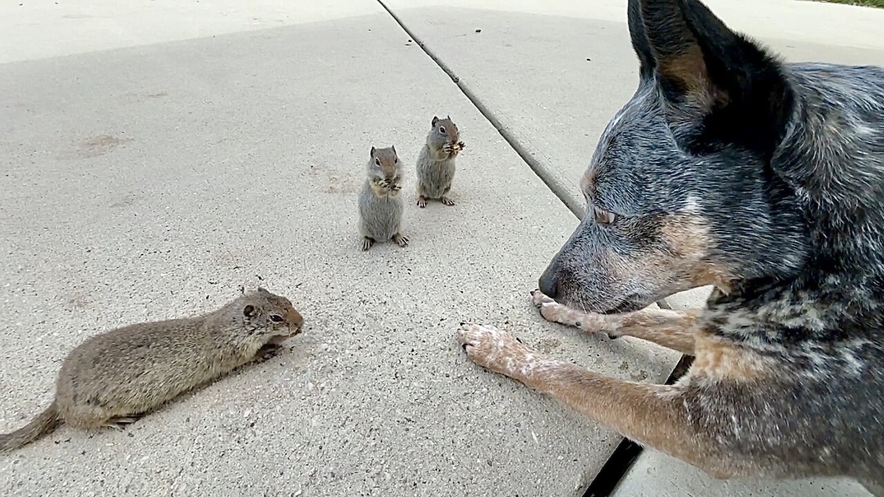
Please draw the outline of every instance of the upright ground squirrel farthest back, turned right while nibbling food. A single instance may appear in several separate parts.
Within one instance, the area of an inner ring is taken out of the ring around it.
[[[454,157],[466,147],[459,141],[457,125],[451,117],[433,116],[431,126],[427,142],[417,157],[417,206],[421,208],[427,206],[430,198],[454,205],[447,197],[454,180]]]

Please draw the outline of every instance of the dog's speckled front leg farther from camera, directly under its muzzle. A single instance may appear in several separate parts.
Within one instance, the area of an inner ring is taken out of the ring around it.
[[[694,355],[695,324],[699,310],[643,309],[624,314],[597,314],[571,309],[553,301],[540,290],[531,292],[531,301],[547,321],[574,326],[589,333],[606,333],[652,341],[663,347]]]

